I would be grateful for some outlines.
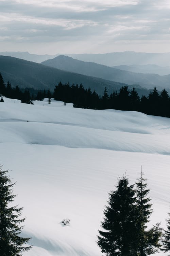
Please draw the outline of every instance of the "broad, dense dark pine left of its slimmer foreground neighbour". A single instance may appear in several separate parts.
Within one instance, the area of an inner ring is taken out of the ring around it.
[[[135,190],[123,176],[116,190],[109,193],[108,206],[104,210],[104,221],[99,230],[97,244],[107,256],[133,256],[136,238]]]

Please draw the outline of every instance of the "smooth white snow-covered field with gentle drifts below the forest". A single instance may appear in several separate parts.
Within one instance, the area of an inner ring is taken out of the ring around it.
[[[154,209],[149,225],[165,227],[170,118],[4,100],[0,162],[13,170],[15,204],[27,217],[22,235],[34,244],[24,256],[101,256],[96,241],[108,191],[125,171],[135,183],[141,166]],[[60,224],[63,218],[69,226]]]

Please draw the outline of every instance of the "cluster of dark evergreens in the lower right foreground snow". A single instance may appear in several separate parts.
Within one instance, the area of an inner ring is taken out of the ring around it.
[[[166,230],[160,223],[147,228],[152,213],[149,191],[141,172],[135,185],[129,185],[124,175],[109,193],[97,241],[106,256],[146,256],[158,249],[170,250],[170,213]]]

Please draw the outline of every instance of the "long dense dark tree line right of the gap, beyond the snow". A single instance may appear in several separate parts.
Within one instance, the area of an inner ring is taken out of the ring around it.
[[[148,97],[142,96],[141,98],[134,87],[129,91],[128,86],[123,86],[119,92],[114,90],[111,95],[108,95],[105,87],[103,96],[100,97],[95,90],[92,92],[90,88],[84,89],[82,84],[70,86],[69,83],[60,82],[54,88],[53,97],[55,100],[73,103],[74,108],[129,110],[170,117],[168,92],[163,89],[159,94],[156,87]]]

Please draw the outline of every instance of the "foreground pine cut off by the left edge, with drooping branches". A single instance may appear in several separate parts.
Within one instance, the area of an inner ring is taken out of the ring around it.
[[[0,255],[20,256],[32,246],[23,246],[30,240],[20,236],[23,228],[20,224],[25,218],[19,219],[22,208],[17,208],[17,205],[11,206],[16,196],[13,194],[15,183],[6,175],[8,171],[3,171],[1,167],[0,165]]]

